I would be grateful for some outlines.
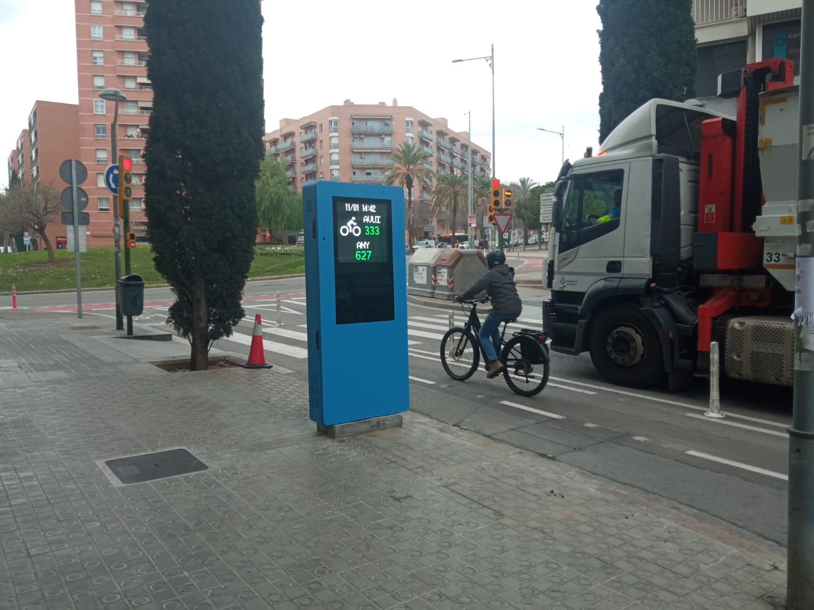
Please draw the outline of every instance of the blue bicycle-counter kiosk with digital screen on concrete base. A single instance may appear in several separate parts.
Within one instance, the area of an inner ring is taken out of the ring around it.
[[[303,188],[310,416],[339,436],[409,409],[404,190]],[[379,419],[381,418],[381,419]],[[350,425],[355,422],[355,425]]]

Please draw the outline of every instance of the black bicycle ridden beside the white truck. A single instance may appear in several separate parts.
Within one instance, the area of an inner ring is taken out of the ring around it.
[[[441,364],[444,371],[456,381],[466,381],[478,370],[480,355],[486,352],[480,344],[478,331],[478,303],[487,303],[487,298],[475,301],[462,301],[462,306],[470,305],[469,317],[463,326],[455,326],[444,333],[441,339]],[[512,338],[504,340],[506,326],[516,320],[506,320],[501,332],[501,355],[503,378],[515,394],[534,396],[539,394],[549,381],[550,357],[545,333],[533,329],[520,329],[512,333]],[[453,367],[459,367],[457,372]],[[542,372],[535,372],[542,367]],[[524,384],[524,385],[521,385]]]

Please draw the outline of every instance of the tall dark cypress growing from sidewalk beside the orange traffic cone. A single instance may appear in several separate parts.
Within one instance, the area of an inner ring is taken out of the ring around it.
[[[258,0],[156,0],[144,18],[154,98],[145,211],[155,268],[172,286],[168,319],[190,369],[243,319],[263,156]]]

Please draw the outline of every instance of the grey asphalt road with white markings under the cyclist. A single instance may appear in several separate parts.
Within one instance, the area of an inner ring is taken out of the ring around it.
[[[522,270],[520,268],[519,270]],[[282,294],[282,327],[275,327],[275,295]],[[304,278],[249,282],[247,318],[232,338],[217,342],[225,351],[247,354],[252,319],[265,322],[266,359],[306,382]],[[541,327],[545,293],[521,289],[519,326]],[[108,316],[112,291],[83,294],[88,315]],[[162,326],[173,295],[147,289],[139,324]],[[64,311],[76,316],[76,294],[28,294],[20,307]],[[457,306],[460,307],[460,306]],[[787,437],[791,392],[722,380],[727,416],[714,420],[707,410],[707,382],[694,390],[626,390],[611,386],[593,370],[587,355],[553,355],[549,385],[536,397],[514,394],[501,377],[479,371],[466,382],[453,381],[440,364],[440,338],[448,312],[409,304],[411,405],[449,424],[522,447],[545,460],[559,460],[675,503],[701,519],[786,543]],[[465,315],[457,309],[456,319]]]

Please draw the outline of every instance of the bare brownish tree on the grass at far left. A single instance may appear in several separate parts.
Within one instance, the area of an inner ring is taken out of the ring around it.
[[[42,182],[36,185],[14,185],[7,191],[0,206],[0,224],[7,229],[32,229],[39,233],[48,251],[48,260],[54,262],[54,245],[50,242],[46,228],[48,224],[55,222],[61,208],[59,189],[55,185]]]

